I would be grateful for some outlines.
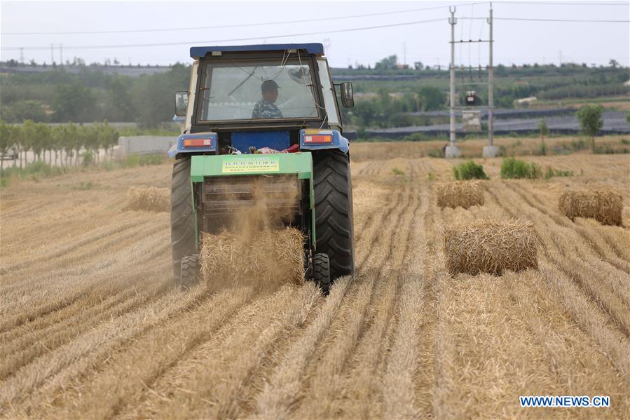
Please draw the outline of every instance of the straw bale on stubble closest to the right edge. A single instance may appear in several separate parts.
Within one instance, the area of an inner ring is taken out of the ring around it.
[[[612,189],[565,191],[560,196],[559,208],[571,220],[592,217],[601,224],[622,224],[622,196]]]

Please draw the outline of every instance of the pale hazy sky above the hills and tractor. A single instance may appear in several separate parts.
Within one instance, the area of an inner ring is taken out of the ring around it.
[[[55,61],[82,57],[86,62],[117,58],[123,64],[168,65],[189,62],[189,47],[200,45],[246,45],[252,43],[320,42],[335,67],[356,62],[374,65],[387,55],[396,54],[399,62],[421,61],[428,65],[447,65],[448,6],[458,5],[456,39],[488,37],[487,2],[463,1],[0,1],[1,59],[46,61],[50,64],[50,44],[55,45]],[[410,9],[432,10],[410,11]],[[493,2],[495,18],[544,18],[575,20],[629,20],[629,1],[585,2],[548,0]],[[404,13],[391,13],[405,11]],[[390,13],[355,18],[345,16]],[[334,18],[329,20],[329,18]],[[319,19],[308,22],[309,19]],[[406,22],[439,19],[437,22],[400,25]],[[301,22],[287,22],[301,20]],[[252,24],[276,22],[273,25]],[[225,27],[228,25],[249,25]],[[341,29],[397,25],[352,32]],[[219,28],[219,26],[224,26]],[[95,32],[144,29],[172,29],[161,32],[96,34],[11,34],[15,32]],[[629,23],[531,22],[495,20],[495,64],[523,62],[586,62],[608,65],[614,58],[630,65]],[[324,32],[322,34],[301,35]],[[273,38],[277,35],[295,35]],[[226,41],[252,38],[247,41]],[[180,43],[171,46],[123,47],[144,43]],[[73,48],[115,46],[110,48]],[[30,50],[29,47],[43,47]],[[406,59],[405,59],[406,53]],[[463,65],[485,64],[488,44],[466,44],[456,50],[456,61]]]

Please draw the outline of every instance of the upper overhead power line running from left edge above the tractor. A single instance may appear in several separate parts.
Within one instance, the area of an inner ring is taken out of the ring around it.
[[[475,4],[486,4],[486,3],[488,3],[488,2],[487,1],[481,1],[481,2],[475,2],[475,3],[458,4],[456,6],[471,6],[471,5],[475,5]],[[425,8],[412,8],[412,9],[408,9],[408,10],[404,10],[404,11],[367,13],[367,14],[364,14],[364,15],[338,16],[338,17],[332,17],[332,18],[315,18],[315,19],[304,19],[304,20],[282,20],[280,22],[248,23],[248,24],[240,24],[240,25],[220,25],[220,26],[206,26],[206,27],[163,28],[163,29],[120,29],[120,30],[111,30],[111,31],[2,32],[2,34],[3,35],[129,34],[129,33],[135,33],[135,32],[170,32],[170,31],[191,31],[191,30],[199,30],[199,29],[225,29],[225,28],[237,28],[237,27],[284,25],[284,24],[287,24],[287,23],[320,22],[320,21],[324,21],[324,20],[325,21],[329,21],[329,20],[350,19],[350,18],[367,18],[367,17],[370,17],[370,16],[394,15],[394,14],[397,14],[397,13],[431,11],[431,10],[437,10],[437,9],[441,9],[441,8],[448,8],[448,6],[434,6],[434,7],[425,7]]]

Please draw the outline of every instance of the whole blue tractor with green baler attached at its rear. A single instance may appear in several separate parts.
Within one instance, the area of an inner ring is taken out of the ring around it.
[[[327,292],[354,273],[355,250],[350,144],[322,44],[193,47],[191,57],[190,90],[175,94],[183,134],[169,151],[174,278],[189,287],[201,233],[229,229],[264,194],[303,233],[306,280]],[[352,107],[352,85],[338,87]]]

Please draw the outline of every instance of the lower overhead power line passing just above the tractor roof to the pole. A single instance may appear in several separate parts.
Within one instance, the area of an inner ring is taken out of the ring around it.
[[[430,23],[430,22],[441,22],[444,21],[445,18],[437,18],[437,19],[428,19],[428,20],[416,20],[414,22],[400,22],[394,23],[390,25],[377,25],[377,26],[368,26],[368,27],[358,27],[358,28],[350,28],[350,29],[335,29],[328,31],[318,31],[318,32],[306,32],[303,34],[286,34],[286,35],[271,35],[271,36],[254,36],[252,38],[234,38],[234,39],[215,39],[213,41],[182,41],[182,42],[168,42],[168,43],[136,43],[136,44],[121,44],[121,45],[96,45],[96,46],[67,46],[65,49],[67,50],[96,50],[96,49],[107,49],[107,48],[137,48],[137,47],[158,47],[158,46],[176,46],[176,45],[191,45],[195,43],[220,43],[220,42],[236,42],[236,41],[253,41],[256,39],[271,39],[271,38],[287,38],[291,36],[307,36],[307,35],[320,35],[320,34],[336,34],[340,32],[357,32],[357,31],[365,31],[368,29],[381,29],[385,27],[397,27],[397,26],[407,26],[407,25],[418,25],[421,23]],[[19,50],[22,47],[1,47],[3,50]],[[37,47],[23,47],[25,50],[43,50],[48,49],[46,46],[37,46]]]

